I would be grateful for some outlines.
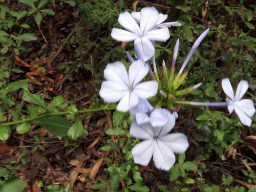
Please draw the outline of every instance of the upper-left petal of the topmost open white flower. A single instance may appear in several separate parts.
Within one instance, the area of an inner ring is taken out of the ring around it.
[[[120,13],[118,17],[118,22],[124,29],[137,34],[137,36],[140,36],[140,28],[136,23],[135,19],[132,17],[131,13]]]

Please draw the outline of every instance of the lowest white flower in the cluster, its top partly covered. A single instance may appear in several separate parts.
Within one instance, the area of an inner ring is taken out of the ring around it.
[[[147,166],[152,156],[158,169],[169,170],[175,163],[174,153],[181,154],[187,150],[187,137],[182,133],[168,134],[174,127],[175,117],[162,127],[153,127],[150,123],[138,125],[132,122],[132,137],[144,140],[132,150],[134,162]]]

